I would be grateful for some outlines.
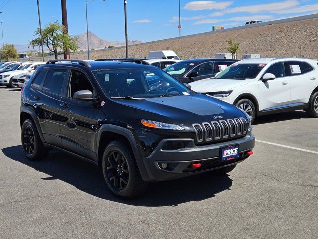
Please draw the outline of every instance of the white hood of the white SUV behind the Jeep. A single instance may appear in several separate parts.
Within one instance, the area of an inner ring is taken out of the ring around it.
[[[196,92],[216,92],[216,91],[227,91],[232,88],[246,85],[250,80],[232,80],[232,79],[215,79],[208,78],[199,81],[189,83],[191,90]]]

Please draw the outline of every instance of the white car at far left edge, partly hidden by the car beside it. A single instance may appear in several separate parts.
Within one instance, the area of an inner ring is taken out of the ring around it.
[[[14,76],[34,71],[34,69],[41,64],[45,64],[45,62],[24,62],[14,71],[3,72],[0,74],[0,84],[15,88],[16,86],[14,86],[12,82]]]

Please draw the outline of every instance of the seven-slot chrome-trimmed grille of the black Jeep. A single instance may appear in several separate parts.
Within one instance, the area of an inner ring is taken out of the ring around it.
[[[244,118],[221,119],[193,124],[197,142],[221,141],[239,136],[245,136],[248,130],[248,122]]]

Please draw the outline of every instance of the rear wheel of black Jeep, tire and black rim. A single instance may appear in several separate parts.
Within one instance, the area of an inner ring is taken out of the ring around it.
[[[21,129],[21,143],[24,155],[31,161],[44,159],[48,149],[44,147],[38,130],[30,119],[26,119]]]

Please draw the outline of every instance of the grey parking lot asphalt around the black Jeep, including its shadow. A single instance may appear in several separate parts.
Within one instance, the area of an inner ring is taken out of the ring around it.
[[[0,238],[317,238],[318,119],[256,119],[254,155],[228,176],[151,184],[112,196],[97,168],[51,151],[28,161],[20,93],[0,87]]]

